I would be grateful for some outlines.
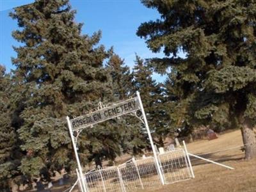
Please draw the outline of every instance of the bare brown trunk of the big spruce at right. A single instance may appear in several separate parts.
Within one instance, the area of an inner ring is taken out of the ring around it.
[[[256,137],[253,131],[252,122],[245,119],[243,122],[243,127],[241,129],[244,148],[245,148],[245,159],[252,159],[256,157]]]

